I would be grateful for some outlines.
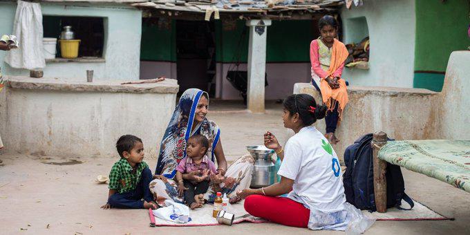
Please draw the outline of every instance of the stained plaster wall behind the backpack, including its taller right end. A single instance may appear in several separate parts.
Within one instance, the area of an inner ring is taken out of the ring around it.
[[[385,131],[396,140],[470,140],[469,64],[470,51],[451,54],[441,93],[421,88],[350,86],[349,102],[336,131],[341,142],[333,146],[338,156],[342,158],[346,147],[361,135],[375,131]],[[294,93],[321,100],[310,84],[296,84]],[[324,120],[314,125],[324,133]]]

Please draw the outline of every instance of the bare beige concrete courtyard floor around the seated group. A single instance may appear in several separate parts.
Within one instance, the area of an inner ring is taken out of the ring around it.
[[[265,114],[242,111],[235,102],[215,102],[208,115],[222,130],[227,160],[247,154],[245,146],[261,144],[266,130],[285,142],[281,105],[270,102]],[[3,137],[7,138],[7,137]],[[160,140],[156,140],[160,142]],[[311,231],[274,223],[213,227],[149,227],[144,209],[102,210],[106,185],[97,175],[107,175],[118,160],[90,156],[0,155],[0,234],[341,234]],[[151,168],[156,159],[144,159]],[[68,162],[64,164],[64,162]],[[81,162],[81,163],[80,163]],[[444,216],[455,220],[378,221],[366,234],[470,234],[470,194],[433,178],[403,169],[406,192]]]

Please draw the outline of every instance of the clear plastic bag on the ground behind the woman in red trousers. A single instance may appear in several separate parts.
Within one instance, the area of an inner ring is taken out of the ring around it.
[[[350,216],[350,222],[346,228],[346,235],[357,235],[366,232],[366,230],[375,223],[375,218],[364,216],[360,209],[349,203],[344,203],[344,207]]]

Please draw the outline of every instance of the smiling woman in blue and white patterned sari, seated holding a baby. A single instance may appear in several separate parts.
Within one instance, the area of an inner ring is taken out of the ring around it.
[[[170,199],[184,203],[184,198],[178,195],[178,184],[173,180],[176,167],[186,156],[186,142],[191,135],[204,135],[209,140],[207,156],[217,164],[217,173],[210,176],[209,190],[204,196],[209,202],[214,201],[216,192],[227,194],[232,201],[239,200],[236,189],[250,186],[253,170],[253,158],[243,156],[227,168],[227,160],[220,142],[220,129],[217,124],[207,120],[209,95],[205,91],[190,88],[182,93],[180,101],[168,124],[160,144],[160,154],[153,180],[149,187],[159,205]],[[189,173],[187,180],[194,180],[198,172]],[[203,203],[203,198],[198,198]]]

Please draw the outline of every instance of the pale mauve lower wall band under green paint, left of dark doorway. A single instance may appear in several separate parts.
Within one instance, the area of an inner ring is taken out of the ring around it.
[[[140,79],[153,79],[159,76],[176,79],[176,63],[174,62],[140,62]]]

